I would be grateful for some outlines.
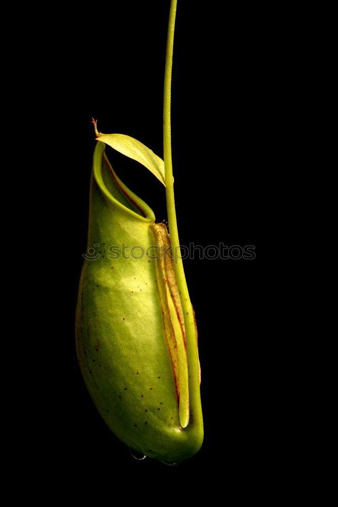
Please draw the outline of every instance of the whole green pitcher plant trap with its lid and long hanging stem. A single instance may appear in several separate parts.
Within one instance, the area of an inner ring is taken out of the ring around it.
[[[140,141],[95,132],[88,252],[79,285],[76,349],[97,410],[131,450],[165,463],[203,440],[197,330],[177,232],[171,158],[171,74],[177,0],[168,25],[164,163]],[[118,178],[106,144],[165,186],[168,227]]]

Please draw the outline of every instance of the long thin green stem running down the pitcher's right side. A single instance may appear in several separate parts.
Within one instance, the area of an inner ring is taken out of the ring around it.
[[[196,330],[193,310],[189,298],[187,282],[185,279],[183,269],[182,257],[180,255],[180,241],[177,230],[177,219],[176,219],[175,197],[174,197],[174,177],[173,177],[172,144],[171,144],[171,85],[172,85],[176,8],[177,8],[177,0],[172,0],[168,24],[168,35],[165,56],[165,74],[164,74],[163,145],[164,145],[164,168],[165,168],[165,185],[166,185],[165,194],[166,194],[166,207],[168,213],[170,240],[174,251],[175,274],[178,289],[180,292],[182,310],[184,315],[188,368],[189,368],[190,417],[193,416],[192,419],[194,424],[201,424],[202,411],[199,394]]]

